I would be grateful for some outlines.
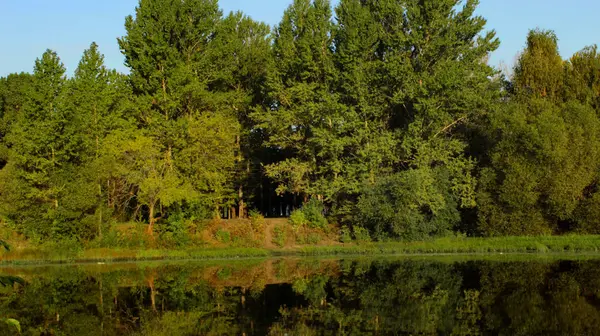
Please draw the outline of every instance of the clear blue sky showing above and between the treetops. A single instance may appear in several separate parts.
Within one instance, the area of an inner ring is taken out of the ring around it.
[[[335,0],[334,2],[336,2]],[[292,0],[220,0],[225,12],[241,10],[275,25]],[[72,73],[92,41],[100,45],[111,68],[126,71],[116,38],[137,0],[0,0],[0,76],[32,71],[47,48],[58,52]],[[488,19],[502,46],[491,63],[512,64],[527,31],[553,29],[563,57],[600,44],[600,0],[481,0],[479,14]]]

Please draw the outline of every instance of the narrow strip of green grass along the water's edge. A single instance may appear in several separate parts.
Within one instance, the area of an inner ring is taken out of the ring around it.
[[[278,256],[427,255],[427,254],[591,254],[600,252],[600,236],[442,238],[421,242],[339,244],[296,248],[190,248],[181,250],[87,250],[26,248],[0,254],[0,264],[52,264],[155,260],[207,260]]]

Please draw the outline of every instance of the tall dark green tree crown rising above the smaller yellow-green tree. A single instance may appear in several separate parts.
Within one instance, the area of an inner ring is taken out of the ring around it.
[[[140,0],[127,17],[119,46],[145,103],[144,124],[164,124],[168,135],[169,121],[206,103],[207,81],[219,71],[207,56],[221,15],[216,0]]]

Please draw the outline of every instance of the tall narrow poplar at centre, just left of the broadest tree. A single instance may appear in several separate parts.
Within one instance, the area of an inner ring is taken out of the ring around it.
[[[266,167],[278,193],[323,198],[341,172],[337,71],[333,62],[332,12],[326,0],[295,0],[274,32],[275,69],[267,87],[270,103],[254,114],[266,145],[281,158]]]

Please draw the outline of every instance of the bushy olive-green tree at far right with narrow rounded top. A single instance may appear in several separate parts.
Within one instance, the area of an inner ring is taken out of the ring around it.
[[[553,32],[530,32],[515,68],[514,94],[490,119],[495,145],[483,169],[479,220],[487,235],[549,234],[569,228],[598,176],[599,120],[565,97]]]

